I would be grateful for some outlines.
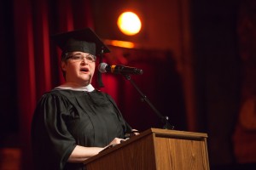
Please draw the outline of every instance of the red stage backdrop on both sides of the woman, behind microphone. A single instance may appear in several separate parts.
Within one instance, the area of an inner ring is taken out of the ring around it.
[[[61,31],[72,31],[90,27],[95,30],[89,0],[32,1],[14,0],[11,3],[14,17],[14,47],[9,48],[15,55],[17,111],[21,162],[23,169],[32,168],[30,131],[32,114],[38,99],[55,88],[64,79],[60,69],[60,50],[50,40],[50,35]],[[108,7],[107,7],[108,8]],[[104,29],[104,28],[102,28]],[[172,51],[109,47],[121,51],[119,56],[106,56],[109,64],[125,64],[144,70],[143,76],[132,77],[148,96],[155,107],[177,129],[186,129],[183,85]],[[124,77],[102,75],[107,92],[116,99],[131,126],[145,130],[162,127],[160,120],[145,102],[141,102],[131,83]],[[94,81],[93,84],[97,88]]]

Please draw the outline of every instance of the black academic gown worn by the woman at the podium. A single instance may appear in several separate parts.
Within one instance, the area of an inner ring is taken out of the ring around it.
[[[34,167],[84,169],[81,163],[67,162],[77,144],[104,147],[125,132],[131,127],[108,94],[52,90],[40,99],[32,119]]]

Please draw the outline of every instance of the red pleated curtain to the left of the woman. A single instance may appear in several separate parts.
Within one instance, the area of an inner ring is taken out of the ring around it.
[[[60,51],[50,48],[49,37],[61,31],[93,27],[93,22],[89,0],[15,0],[13,4],[21,162],[22,169],[32,169],[33,111],[44,92],[63,82],[58,67]]]

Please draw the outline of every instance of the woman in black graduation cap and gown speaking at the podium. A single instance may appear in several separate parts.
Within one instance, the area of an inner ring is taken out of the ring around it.
[[[96,54],[109,52],[90,29],[53,37],[66,83],[43,95],[32,120],[36,169],[84,169],[83,161],[132,133],[113,99],[91,85]]]

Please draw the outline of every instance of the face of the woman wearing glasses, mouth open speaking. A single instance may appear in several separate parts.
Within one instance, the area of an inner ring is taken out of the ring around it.
[[[95,60],[96,57],[88,53],[68,53],[67,60],[61,62],[61,69],[66,72],[66,81],[81,86],[90,84],[95,71]]]

